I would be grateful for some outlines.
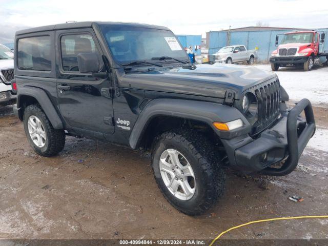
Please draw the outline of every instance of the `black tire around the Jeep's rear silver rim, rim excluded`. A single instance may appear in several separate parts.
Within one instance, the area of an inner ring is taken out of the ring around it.
[[[36,146],[28,130],[28,119],[31,115],[36,116],[42,122],[46,132],[45,146],[39,148]],[[63,129],[54,129],[46,114],[39,105],[29,105],[24,111],[24,130],[31,147],[36,153],[42,156],[50,157],[58,154],[65,146],[65,132]]]

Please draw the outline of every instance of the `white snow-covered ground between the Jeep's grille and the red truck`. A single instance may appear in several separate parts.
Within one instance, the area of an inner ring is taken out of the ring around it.
[[[271,71],[270,65],[255,66]],[[298,68],[280,68],[275,73],[291,101],[308,98],[314,105],[328,105],[328,67],[314,68],[309,72]]]

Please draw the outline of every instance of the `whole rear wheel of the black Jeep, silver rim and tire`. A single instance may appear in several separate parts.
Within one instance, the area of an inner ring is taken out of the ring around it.
[[[30,145],[39,155],[53,156],[65,146],[65,132],[54,129],[38,105],[29,105],[24,111],[24,130]]]

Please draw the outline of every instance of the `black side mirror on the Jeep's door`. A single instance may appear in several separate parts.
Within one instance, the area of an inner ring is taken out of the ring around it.
[[[77,55],[77,65],[80,73],[99,72],[99,60],[95,53],[79,53]]]

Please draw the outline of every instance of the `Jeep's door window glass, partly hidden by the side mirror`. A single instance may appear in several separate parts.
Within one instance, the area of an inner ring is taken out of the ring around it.
[[[99,54],[90,34],[64,35],[61,37],[60,45],[64,71],[78,72],[77,55],[80,53]]]

